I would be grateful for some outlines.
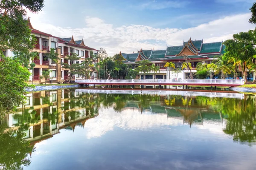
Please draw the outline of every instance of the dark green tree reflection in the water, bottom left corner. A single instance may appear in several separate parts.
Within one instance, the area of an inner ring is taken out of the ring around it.
[[[3,128],[0,127],[0,169],[22,170],[24,166],[29,166],[31,161],[28,153],[34,149],[24,139],[25,133],[21,130],[3,132]]]

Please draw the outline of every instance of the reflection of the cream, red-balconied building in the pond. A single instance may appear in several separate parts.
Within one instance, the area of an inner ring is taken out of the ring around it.
[[[75,130],[76,126],[83,127],[88,118],[98,113],[91,113],[85,107],[76,105],[76,99],[81,94],[70,92],[69,89],[27,94],[23,106],[25,109],[17,107],[17,112],[8,114],[0,125],[22,128],[31,144],[52,137],[62,128]],[[26,123],[22,124],[23,121]]]

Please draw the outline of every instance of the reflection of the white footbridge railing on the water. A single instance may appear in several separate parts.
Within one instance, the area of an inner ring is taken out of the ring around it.
[[[83,93],[101,93],[101,94],[151,94],[151,95],[180,95],[180,96],[206,96],[206,97],[226,97],[244,99],[241,93],[225,92],[204,92],[204,91],[160,91],[160,90],[94,90],[94,89],[76,89]]]

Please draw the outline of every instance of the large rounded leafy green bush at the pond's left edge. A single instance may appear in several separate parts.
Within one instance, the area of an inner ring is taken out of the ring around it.
[[[20,105],[26,88],[32,87],[26,82],[30,73],[27,68],[23,68],[21,63],[2,55],[0,61],[0,110],[12,111],[15,106]]]

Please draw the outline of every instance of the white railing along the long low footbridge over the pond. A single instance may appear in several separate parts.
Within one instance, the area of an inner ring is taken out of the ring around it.
[[[76,83],[90,84],[221,84],[243,85],[244,79],[82,79]]]

